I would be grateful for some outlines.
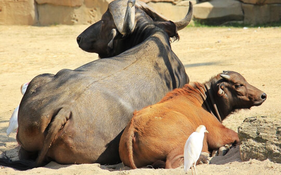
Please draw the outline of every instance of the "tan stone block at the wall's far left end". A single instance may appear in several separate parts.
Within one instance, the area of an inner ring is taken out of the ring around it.
[[[34,0],[0,1],[0,25],[34,25],[37,16]]]

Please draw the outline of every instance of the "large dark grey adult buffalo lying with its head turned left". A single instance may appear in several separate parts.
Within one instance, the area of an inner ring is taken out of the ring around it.
[[[119,140],[133,111],[189,83],[170,38],[179,39],[177,29],[189,24],[192,3],[187,16],[176,22],[165,21],[139,1],[113,1],[108,9],[103,20],[83,33],[101,37],[88,51],[117,56],[33,78],[19,107],[20,160],[4,154],[0,165],[26,170],[51,160],[116,164]],[[106,40],[101,34],[108,31],[112,37]],[[113,52],[103,51],[108,48]]]

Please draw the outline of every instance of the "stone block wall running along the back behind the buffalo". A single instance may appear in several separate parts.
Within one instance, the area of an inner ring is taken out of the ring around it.
[[[1,0],[0,25],[93,24],[112,0]],[[171,20],[185,16],[189,0],[141,0]],[[191,0],[194,20],[206,24],[280,21],[281,0]]]

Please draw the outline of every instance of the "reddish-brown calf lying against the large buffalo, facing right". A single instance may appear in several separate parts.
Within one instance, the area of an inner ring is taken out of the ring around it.
[[[182,166],[185,142],[199,125],[209,131],[203,141],[204,152],[239,144],[237,133],[222,125],[221,120],[265,100],[264,92],[232,71],[224,71],[205,83],[186,84],[157,104],[134,112],[121,136],[120,158],[134,169],[159,162],[165,168]]]

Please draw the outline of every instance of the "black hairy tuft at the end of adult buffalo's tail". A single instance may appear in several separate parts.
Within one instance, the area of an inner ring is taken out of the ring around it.
[[[33,168],[32,165],[34,161],[31,160],[15,160],[12,161],[10,157],[6,155],[6,151],[2,153],[2,158],[0,158],[0,165],[5,167],[11,167],[17,170],[28,170]]]

